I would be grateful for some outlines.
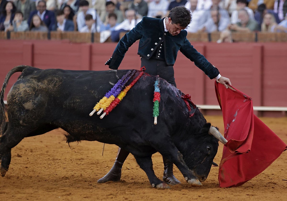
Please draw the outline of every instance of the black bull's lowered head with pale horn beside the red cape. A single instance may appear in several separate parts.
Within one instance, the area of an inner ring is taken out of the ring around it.
[[[188,140],[187,150],[182,152],[185,164],[199,181],[205,181],[210,172],[218,150],[218,140],[224,144],[227,142],[215,127],[206,123],[198,134]]]

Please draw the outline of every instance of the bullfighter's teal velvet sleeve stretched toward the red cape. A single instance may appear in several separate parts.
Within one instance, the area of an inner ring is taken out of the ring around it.
[[[187,35],[187,32],[186,32]],[[218,69],[213,66],[202,54],[197,52],[197,50],[190,44],[190,42],[185,37],[183,45],[179,49],[183,55],[185,55],[190,61],[199,67],[210,79],[216,78],[218,76]]]

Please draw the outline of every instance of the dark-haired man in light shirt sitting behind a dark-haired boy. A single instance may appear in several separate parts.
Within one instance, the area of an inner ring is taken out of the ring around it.
[[[77,28],[78,30],[81,30],[84,26],[86,26],[85,17],[87,14],[90,14],[93,16],[93,19],[95,20],[95,23],[97,24],[96,30],[100,30],[100,27],[102,26],[102,21],[100,20],[99,15],[96,13],[95,9],[89,8],[89,2],[86,0],[81,0],[79,3],[79,9],[81,10],[77,14]]]

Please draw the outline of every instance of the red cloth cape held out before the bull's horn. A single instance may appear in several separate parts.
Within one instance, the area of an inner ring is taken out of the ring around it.
[[[217,82],[215,91],[228,140],[219,165],[219,187],[235,187],[265,170],[287,146],[253,114],[249,96]]]

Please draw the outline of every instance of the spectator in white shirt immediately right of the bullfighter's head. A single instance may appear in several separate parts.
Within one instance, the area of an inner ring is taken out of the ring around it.
[[[191,23],[187,27],[187,32],[195,33],[203,28],[203,24],[207,22],[210,14],[207,10],[197,10],[197,0],[189,0],[185,7],[192,14]]]

